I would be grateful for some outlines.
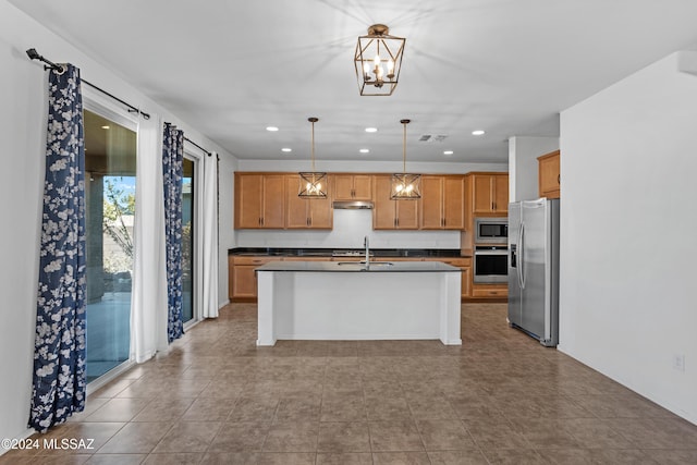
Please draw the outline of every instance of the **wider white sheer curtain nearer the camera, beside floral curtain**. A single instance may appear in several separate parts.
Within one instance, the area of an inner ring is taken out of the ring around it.
[[[167,272],[162,203],[162,120],[139,118],[134,224],[131,357],[167,351]]]

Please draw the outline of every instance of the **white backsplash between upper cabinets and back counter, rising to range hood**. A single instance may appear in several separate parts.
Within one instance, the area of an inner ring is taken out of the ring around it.
[[[372,210],[334,210],[331,231],[239,230],[237,247],[460,248],[460,231],[374,231]]]

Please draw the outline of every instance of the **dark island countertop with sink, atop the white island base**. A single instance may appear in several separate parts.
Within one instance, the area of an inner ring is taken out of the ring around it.
[[[256,271],[314,272],[460,272],[457,267],[441,261],[270,261]]]

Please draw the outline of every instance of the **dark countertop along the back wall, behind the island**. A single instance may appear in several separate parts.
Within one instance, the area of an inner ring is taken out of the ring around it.
[[[237,247],[228,250],[228,255],[269,256],[269,257],[362,257],[362,248],[292,248],[292,247]],[[414,258],[461,258],[458,248],[370,248],[372,257],[414,257]]]

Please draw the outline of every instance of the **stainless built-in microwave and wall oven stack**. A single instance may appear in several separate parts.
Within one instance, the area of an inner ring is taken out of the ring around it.
[[[474,279],[481,284],[509,282],[509,219],[475,218]]]

